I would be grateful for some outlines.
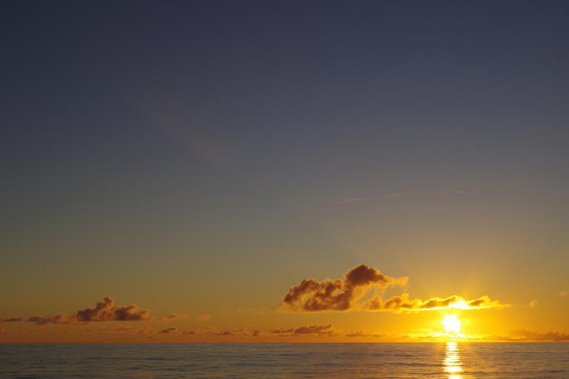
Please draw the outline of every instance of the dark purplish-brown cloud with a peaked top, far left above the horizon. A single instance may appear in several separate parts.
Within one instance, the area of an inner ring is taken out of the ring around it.
[[[94,308],[81,309],[75,314],[60,314],[53,317],[33,316],[27,321],[36,325],[47,324],[74,324],[101,321],[142,321],[148,319],[147,310],[139,311],[134,304],[129,306],[115,306],[112,297],[105,297],[97,301]]]

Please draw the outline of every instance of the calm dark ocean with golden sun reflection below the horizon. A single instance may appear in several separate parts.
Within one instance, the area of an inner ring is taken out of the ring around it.
[[[569,378],[569,343],[0,345],[1,378]]]

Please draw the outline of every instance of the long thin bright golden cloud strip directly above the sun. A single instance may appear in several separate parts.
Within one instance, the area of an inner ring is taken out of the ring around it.
[[[429,311],[434,309],[489,309],[505,308],[508,304],[502,304],[498,300],[492,300],[487,296],[478,299],[465,300],[462,297],[452,295],[444,299],[432,297],[431,299],[409,299],[409,294],[404,292],[401,295],[392,296],[387,300],[382,297],[372,297],[365,309],[370,311]]]

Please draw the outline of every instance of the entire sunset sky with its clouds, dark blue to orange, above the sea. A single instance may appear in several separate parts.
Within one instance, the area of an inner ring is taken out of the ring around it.
[[[0,342],[569,340],[566,1],[2,8]]]

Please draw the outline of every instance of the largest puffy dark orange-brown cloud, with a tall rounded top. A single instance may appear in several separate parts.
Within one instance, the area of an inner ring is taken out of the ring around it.
[[[345,273],[345,279],[304,279],[288,289],[283,302],[296,311],[347,311],[365,289],[406,284],[407,277],[388,277],[378,269],[359,265]]]

